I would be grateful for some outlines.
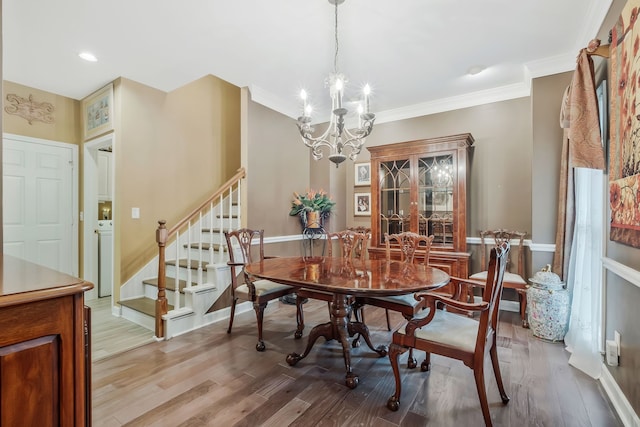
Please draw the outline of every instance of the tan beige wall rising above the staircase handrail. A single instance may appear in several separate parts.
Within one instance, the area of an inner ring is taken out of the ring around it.
[[[123,283],[157,254],[158,220],[170,228],[240,167],[240,89],[213,76],[171,93],[120,79],[115,96],[116,283]],[[131,218],[133,207],[140,219]]]

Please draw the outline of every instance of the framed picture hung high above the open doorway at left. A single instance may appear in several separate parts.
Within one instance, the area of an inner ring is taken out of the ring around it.
[[[113,130],[113,84],[82,100],[82,129],[85,141]]]

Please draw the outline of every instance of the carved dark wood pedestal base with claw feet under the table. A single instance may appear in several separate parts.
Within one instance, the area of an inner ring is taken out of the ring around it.
[[[369,328],[362,322],[351,322],[351,304],[349,301],[351,297],[349,295],[334,294],[333,302],[331,303],[331,321],[323,323],[314,327],[309,333],[309,340],[304,353],[290,353],[287,356],[287,363],[294,366],[300,360],[307,357],[309,351],[315,344],[319,337],[324,337],[326,340],[339,340],[342,344],[342,355],[344,356],[344,365],[347,371],[346,385],[349,388],[356,388],[358,386],[358,376],[351,370],[351,349],[349,345],[349,338],[355,334],[360,334],[369,348],[384,357],[387,355],[387,347],[384,345],[373,347],[371,339],[369,338]]]

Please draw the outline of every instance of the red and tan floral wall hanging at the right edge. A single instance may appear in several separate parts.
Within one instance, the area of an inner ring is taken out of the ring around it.
[[[609,201],[611,240],[640,247],[640,0],[611,31]]]

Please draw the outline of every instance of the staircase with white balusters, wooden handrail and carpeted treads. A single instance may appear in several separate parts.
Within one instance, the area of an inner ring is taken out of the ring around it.
[[[229,316],[217,304],[230,284],[224,231],[240,228],[244,169],[171,229],[159,221],[159,254],[120,290],[120,315],[169,339]],[[161,261],[163,260],[163,261]]]

